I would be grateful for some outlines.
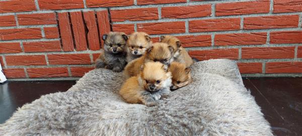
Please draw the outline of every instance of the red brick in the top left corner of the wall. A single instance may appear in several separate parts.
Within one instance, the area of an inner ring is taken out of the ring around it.
[[[0,7],[0,13],[36,11],[33,0],[1,1]]]

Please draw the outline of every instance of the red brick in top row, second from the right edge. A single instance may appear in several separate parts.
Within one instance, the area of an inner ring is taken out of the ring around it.
[[[269,1],[216,4],[216,16],[246,15],[269,12]]]

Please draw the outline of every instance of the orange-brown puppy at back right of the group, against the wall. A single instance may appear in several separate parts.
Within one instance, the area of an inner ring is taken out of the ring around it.
[[[161,42],[167,43],[169,46],[173,47],[173,57],[175,61],[185,63],[186,67],[189,67],[194,63],[186,49],[181,46],[181,42],[178,38],[172,35],[165,35],[161,36]]]

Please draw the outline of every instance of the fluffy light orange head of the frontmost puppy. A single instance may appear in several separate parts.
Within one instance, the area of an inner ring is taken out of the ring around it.
[[[160,62],[146,62],[140,74],[143,88],[149,92],[158,92],[171,86],[171,72]]]

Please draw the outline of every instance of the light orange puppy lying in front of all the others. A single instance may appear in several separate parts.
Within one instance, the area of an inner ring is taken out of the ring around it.
[[[126,80],[119,94],[127,103],[153,106],[155,101],[171,92],[171,72],[160,62],[146,62],[139,75]]]

